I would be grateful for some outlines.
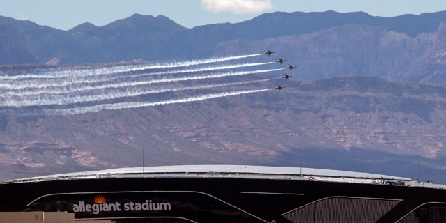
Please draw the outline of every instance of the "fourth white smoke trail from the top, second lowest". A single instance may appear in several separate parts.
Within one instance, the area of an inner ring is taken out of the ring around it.
[[[43,106],[43,105],[71,105],[75,103],[82,102],[97,102],[100,100],[112,100],[116,98],[128,98],[138,95],[146,95],[151,93],[164,93],[164,92],[174,92],[174,91],[188,91],[188,90],[198,90],[198,89],[210,89],[217,88],[221,86],[233,86],[240,84],[252,84],[257,82],[267,82],[273,79],[261,79],[248,82],[233,82],[224,84],[208,84],[203,86],[186,86],[181,88],[173,89],[151,89],[148,90],[146,87],[143,89],[139,88],[134,91],[112,91],[99,95],[43,95],[26,98],[25,100],[8,100],[0,102],[0,107],[28,107],[28,106]]]

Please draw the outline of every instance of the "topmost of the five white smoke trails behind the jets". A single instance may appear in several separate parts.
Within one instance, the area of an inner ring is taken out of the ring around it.
[[[0,76],[1,79],[57,79],[64,77],[72,77],[72,76],[95,76],[109,73],[117,73],[117,72],[130,72],[136,70],[148,70],[148,69],[159,69],[159,68],[178,68],[178,67],[187,67],[187,66],[195,66],[202,65],[206,63],[217,63],[222,61],[231,61],[234,59],[244,59],[252,56],[259,56],[263,54],[248,54],[248,55],[240,55],[240,56],[226,56],[215,59],[202,59],[202,60],[193,60],[193,61],[184,61],[178,63],[164,63],[157,64],[153,66],[114,66],[111,68],[99,68],[92,69],[89,72],[85,72],[86,70],[62,70],[49,72],[45,74],[31,74],[31,75],[15,75],[15,76]],[[88,69],[87,69],[88,70]]]

